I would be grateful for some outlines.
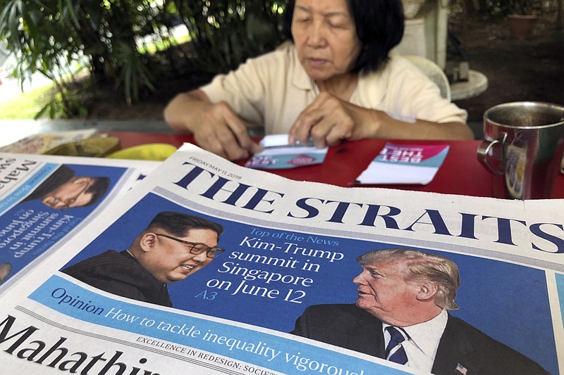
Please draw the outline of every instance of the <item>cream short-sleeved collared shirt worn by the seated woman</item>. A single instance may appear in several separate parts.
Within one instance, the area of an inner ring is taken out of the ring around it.
[[[244,120],[264,125],[266,134],[286,134],[319,94],[292,44],[250,58],[201,89],[213,103],[226,101]],[[384,70],[360,75],[350,103],[419,120],[467,120],[465,110],[442,98],[427,76],[398,55],[391,55]]]

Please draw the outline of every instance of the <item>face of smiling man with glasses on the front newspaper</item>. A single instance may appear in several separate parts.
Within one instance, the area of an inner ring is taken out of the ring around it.
[[[172,236],[164,231],[162,232],[167,236]],[[213,258],[207,257],[205,251],[201,254],[192,254],[189,245],[166,236],[157,236],[157,234],[149,232],[144,237],[147,237],[145,241],[148,241],[151,245],[148,246],[149,250],[145,251],[140,262],[147,271],[151,272],[163,284],[183,280],[209,265],[213,260]],[[217,234],[211,229],[190,229],[186,236],[175,238],[192,243],[203,243],[209,248],[217,246]]]

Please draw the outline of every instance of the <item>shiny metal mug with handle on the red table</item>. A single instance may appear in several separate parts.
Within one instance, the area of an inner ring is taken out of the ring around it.
[[[551,198],[564,154],[564,106],[503,103],[484,113],[478,160],[502,176],[505,198]]]

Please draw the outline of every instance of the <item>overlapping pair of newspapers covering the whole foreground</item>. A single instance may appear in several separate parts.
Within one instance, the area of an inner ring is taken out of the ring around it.
[[[564,373],[562,200],[0,158],[3,374]]]

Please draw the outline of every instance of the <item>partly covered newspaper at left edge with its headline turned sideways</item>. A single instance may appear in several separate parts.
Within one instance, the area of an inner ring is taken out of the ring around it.
[[[0,293],[159,164],[0,153]]]

